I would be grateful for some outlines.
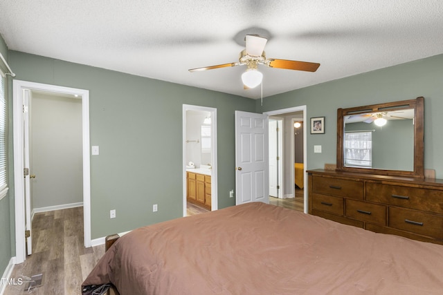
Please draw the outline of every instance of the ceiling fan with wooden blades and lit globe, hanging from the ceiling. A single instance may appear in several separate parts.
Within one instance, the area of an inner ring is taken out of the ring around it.
[[[245,66],[246,71],[242,74],[242,82],[245,88],[254,88],[262,83],[263,74],[257,69],[259,64],[271,68],[284,68],[287,70],[305,70],[315,72],[320,64],[307,61],[293,61],[287,59],[266,59],[264,46],[268,39],[259,35],[246,35],[244,38],[246,49],[242,50],[238,62],[205,66],[203,68],[191,68],[189,71],[213,70],[214,68],[226,68],[228,66]]]

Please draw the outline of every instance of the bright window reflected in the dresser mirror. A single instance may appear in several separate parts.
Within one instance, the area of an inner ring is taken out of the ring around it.
[[[345,133],[345,166],[372,168],[372,131]]]

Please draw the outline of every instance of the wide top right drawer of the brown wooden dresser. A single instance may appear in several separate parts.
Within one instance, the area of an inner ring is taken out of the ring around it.
[[[366,200],[399,207],[443,213],[443,191],[366,183]]]

